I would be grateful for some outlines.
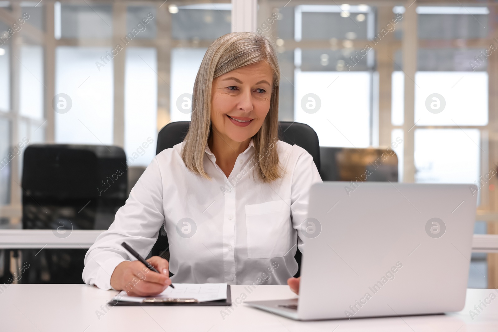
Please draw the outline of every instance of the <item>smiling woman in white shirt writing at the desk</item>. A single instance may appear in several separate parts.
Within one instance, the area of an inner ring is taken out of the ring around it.
[[[185,140],[152,160],[88,250],[87,284],[148,296],[171,282],[288,280],[297,293],[294,254],[296,243],[301,251],[304,244],[296,230],[309,188],[321,179],[308,152],[277,138],[279,77],[267,37],[235,32],[211,44],[195,79]],[[146,256],[163,224],[170,261],[151,257],[162,273],[145,277],[148,270],[130,261],[121,243]]]

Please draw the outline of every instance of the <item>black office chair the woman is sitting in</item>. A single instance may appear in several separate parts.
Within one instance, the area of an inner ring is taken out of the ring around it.
[[[159,131],[157,135],[156,155],[164,149],[173,147],[181,143],[187,135],[190,121],[170,122]],[[320,172],[320,144],[318,135],[309,125],[299,122],[280,121],[278,128],[278,138],[289,144],[296,144],[311,154],[313,161]],[[161,226],[159,237],[151,250],[152,256],[161,256],[169,261],[168,235],[164,226]],[[297,249],[294,258],[298,264],[295,277],[301,273],[301,251]],[[170,276],[173,274],[170,272]]]

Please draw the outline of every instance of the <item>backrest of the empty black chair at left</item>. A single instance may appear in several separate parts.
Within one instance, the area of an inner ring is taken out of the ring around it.
[[[29,145],[21,184],[23,228],[56,229],[68,219],[77,229],[107,229],[126,201],[126,156],[118,146]]]

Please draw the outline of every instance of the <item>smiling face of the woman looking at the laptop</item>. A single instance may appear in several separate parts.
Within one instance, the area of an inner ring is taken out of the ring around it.
[[[213,134],[237,142],[254,136],[270,109],[272,82],[273,72],[266,61],[214,79],[211,95]]]

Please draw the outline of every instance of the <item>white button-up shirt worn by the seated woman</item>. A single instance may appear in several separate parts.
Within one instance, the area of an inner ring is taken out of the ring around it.
[[[174,283],[286,284],[297,272],[297,247],[304,252],[298,235],[309,189],[322,182],[313,157],[278,141],[272,149],[285,174],[263,183],[253,172],[252,140],[228,178],[206,144],[208,180],[186,168],[182,146],[163,150],[145,169],[115,221],[88,250],[83,280],[111,289],[116,266],[134,260],[121,243],[145,257],[164,224]]]

